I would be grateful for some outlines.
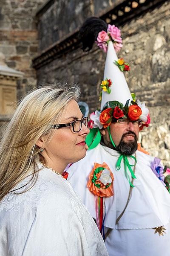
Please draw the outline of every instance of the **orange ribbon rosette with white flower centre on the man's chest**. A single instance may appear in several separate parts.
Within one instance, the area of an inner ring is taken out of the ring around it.
[[[114,195],[113,180],[113,173],[106,163],[94,163],[94,168],[89,175],[87,187],[94,195],[108,198]]]

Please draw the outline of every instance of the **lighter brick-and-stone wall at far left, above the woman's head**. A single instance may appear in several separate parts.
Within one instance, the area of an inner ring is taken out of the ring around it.
[[[3,0],[0,2],[0,52],[8,67],[25,73],[17,84],[17,96],[37,84],[36,70],[31,67],[37,55],[37,25],[35,14],[45,0]]]

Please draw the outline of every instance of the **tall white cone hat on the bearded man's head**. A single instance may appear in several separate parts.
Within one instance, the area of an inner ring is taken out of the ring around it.
[[[104,80],[111,79],[111,93],[102,91],[102,102],[101,110],[106,102],[108,101],[118,101],[123,105],[127,102],[128,99],[132,100],[129,87],[127,85],[124,73],[119,70],[119,67],[116,66],[115,61],[117,61],[117,55],[113,47],[112,41],[108,43],[108,51],[106,56],[105,71],[104,71]]]

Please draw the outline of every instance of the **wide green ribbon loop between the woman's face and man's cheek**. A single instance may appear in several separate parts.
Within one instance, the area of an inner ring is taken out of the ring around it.
[[[90,129],[89,134],[86,136],[85,143],[88,145],[88,149],[96,148],[101,140],[101,134],[99,128]]]

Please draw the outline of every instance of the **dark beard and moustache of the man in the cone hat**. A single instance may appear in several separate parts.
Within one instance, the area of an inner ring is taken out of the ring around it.
[[[127,135],[134,135],[134,140],[133,141],[129,141],[129,142],[124,142],[123,138]],[[121,154],[124,155],[131,155],[133,153],[135,153],[135,151],[138,148],[138,143],[137,143],[137,137],[136,134],[131,131],[131,132],[127,132],[125,134],[122,135],[122,138],[120,140],[119,145],[116,146],[116,148],[114,148],[116,151],[119,151]]]

